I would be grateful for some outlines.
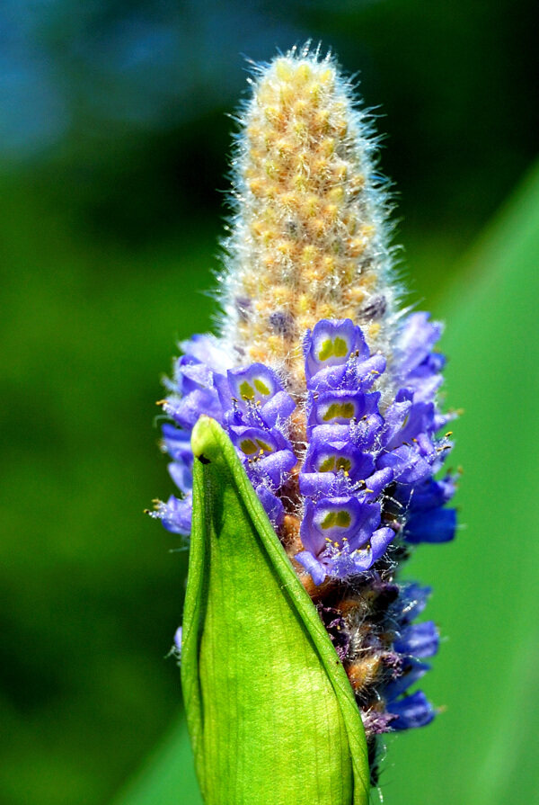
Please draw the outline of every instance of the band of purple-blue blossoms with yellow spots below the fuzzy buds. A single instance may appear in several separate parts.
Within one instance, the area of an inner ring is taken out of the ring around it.
[[[449,434],[438,436],[447,421],[436,400],[444,359],[432,352],[440,332],[427,314],[405,319],[388,377],[384,356],[371,353],[360,327],[350,319],[319,321],[303,340],[305,403],[287,389],[284,374],[261,362],[231,366],[215,339],[195,337],[183,344],[164,405],[175,425],[163,425],[163,449],[182,493],[154,513],[165,528],[189,533],[190,430],[206,413],[225,426],[276,531],[284,535],[297,522],[301,546],[293,556],[314,586],[322,589],[329,580],[371,590],[371,631],[370,615],[356,627],[338,614],[326,627],[332,640],[342,631],[345,666],[353,666],[358,650],[378,657],[369,660],[382,669],[376,706],[373,700],[363,713],[372,735],[434,717],[423,693],[407,693],[429,668],[420,660],[439,644],[434,623],[414,623],[429,588],[381,584],[377,568],[383,562],[393,572],[402,551],[410,550],[404,546],[455,534],[455,509],[446,504],[456,477],[434,478],[451,448]],[[298,410],[306,442],[293,424]],[[380,592],[386,587],[389,597]]]

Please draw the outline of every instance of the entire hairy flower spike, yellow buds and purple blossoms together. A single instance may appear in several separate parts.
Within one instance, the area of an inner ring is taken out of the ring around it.
[[[220,335],[181,344],[163,410],[180,490],[156,506],[190,532],[190,433],[229,434],[349,675],[375,776],[376,736],[435,711],[411,686],[438,647],[411,546],[446,542],[456,477],[437,392],[441,326],[398,309],[387,204],[365,113],[331,58],[261,68],[234,161]]]

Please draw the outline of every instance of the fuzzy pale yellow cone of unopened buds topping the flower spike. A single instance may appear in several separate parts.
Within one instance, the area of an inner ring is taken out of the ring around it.
[[[385,210],[372,143],[331,58],[304,50],[252,79],[236,175],[223,335],[240,362],[304,383],[301,337],[322,318],[351,318],[384,350],[392,306]]]

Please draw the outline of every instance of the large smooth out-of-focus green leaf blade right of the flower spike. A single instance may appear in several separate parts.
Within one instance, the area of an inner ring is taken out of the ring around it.
[[[392,743],[386,805],[528,805],[539,789],[539,165],[459,276],[442,312],[464,527],[409,570],[434,586],[447,642],[425,689],[446,712]]]

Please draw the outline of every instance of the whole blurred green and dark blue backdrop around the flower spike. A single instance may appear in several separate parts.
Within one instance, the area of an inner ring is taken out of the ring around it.
[[[172,491],[155,399],[176,340],[215,312],[243,55],[308,37],[379,107],[411,299],[447,318],[448,400],[467,409],[468,527],[410,569],[436,588],[448,642],[426,688],[448,709],[390,741],[385,801],[536,801],[535,13],[530,0],[4,0],[2,805],[110,802],[178,719],[164,657],[187,556],[142,514]],[[186,771],[167,761],[170,790],[148,803],[194,802],[180,744]]]

